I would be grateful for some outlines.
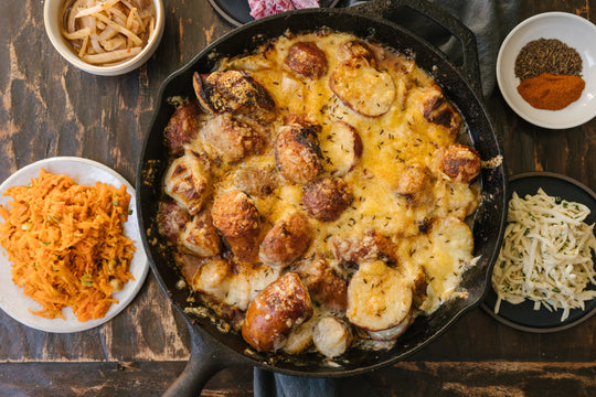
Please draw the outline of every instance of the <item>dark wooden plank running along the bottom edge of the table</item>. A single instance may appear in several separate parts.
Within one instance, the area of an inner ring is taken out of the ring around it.
[[[180,362],[0,364],[0,395],[161,396],[183,366]],[[406,362],[368,374],[364,379],[380,397],[590,397],[596,394],[596,364]],[[227,368],[209,380],[201,396],[252,396],[252,368]]]

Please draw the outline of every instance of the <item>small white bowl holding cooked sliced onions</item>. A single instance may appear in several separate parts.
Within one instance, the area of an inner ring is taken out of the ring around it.
[[[88,64],[78,57],[78,55],[72,50],[68,41],[62,35],[61,9],[64,1],[67,0],[45,0],[45,4],[43,8],[43,22],[45,24],[45,32],[47,33],[47,36],[50,37],[50,41],[52,42],[56,51],[66,61],[68,61],[71,64],[78,67],[79,69],[100,76],[121,75],[131,72],[146,63],[151,57],[151,55],[153,55],[157,47],[159,46],[161,36],[163,35],[166,15],[162,1],[152,0],[156,7],[156,30],[149,37],[142,51],[138,53],[137,56],[111,66],[97,66]]]

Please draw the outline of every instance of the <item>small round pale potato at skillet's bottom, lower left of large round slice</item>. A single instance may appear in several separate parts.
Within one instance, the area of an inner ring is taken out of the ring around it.
[[[352,343],[352,330],[345,321],[336,316],[323,316],[312,330],[312,343],[326,357],[345,353]]]

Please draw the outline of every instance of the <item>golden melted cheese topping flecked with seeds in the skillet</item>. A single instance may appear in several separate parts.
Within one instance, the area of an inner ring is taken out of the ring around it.
[[[338,165],[345,171],[345,164],[354,163],[343,175],[354,201],[337,221],[310,218],[316,233],[304,257],[317,254],[332,259],[334,244],[358,239],[374,230],[397,246],[397,265],[403,277],[413,283],[421,273],[424,275],[427,298],[418,310],[428,314],[457,291],[462,271],[472,261],[473,238],[462,221],[476,211],[480,189],[478,184],[453,182],[437,170],[435,153],[454,143],[458,137],[454,137],[446,127],[425,119],[425,99],[437,92],[440,94],[440,88],[412,58],[369,45],[375,54],[376,68],[391,76],[395,87],[392,106],[379,117],[366,117],[352,110],[333,94],[329,88],[329,75],[340,64],[336,56],[338,47],[354,39],[344,33],[281,36],[257,54],[222,62],[220,69],[249,71],[255,81],[269,92],[280,115],[266,126],[269,139],[260,154],[213,168],[214,196],[235,187],[234,175],[238,170],[275,168],[275,131],[283,125],[283,115],[306,115],[309,121],[322,127],[319,142],[323,174],[337,174]],[[315,42],[324,52],[328,72],[321,78],[299,76],[284,63],[288,49],[298,41]],[[359,84],[362,86],[366,82]],[[362,141],[360,158],[354,155],[353,148],[338,146],[338,140],[350,142],[347,137],[334,136],[338,122],[352,126],[359,133]],[[201,140],[191,146],[211,151],[209,143]],[[331,150],[334,152],[330,153]],[[338,159],[338,164],[331,161],[333,158]],[[411,202],[412,197],[408,200],[395,192],[400,175],[412,164],[426,167],[432,173],[427,194],[415,203]],[[289,212],[304,211],[302,185],[287,181],[273,194],[254,196],[253,200],[265,219],[264,224],[272,226]],[[421,233],[421,225],[426,223],[432,224],[430,229]],[[332,266],[337,268],[338,264],[332,262]],[[234,282],[227,281],[226,285],[238,288]],[[256,285],[263,288],[262,282]]]

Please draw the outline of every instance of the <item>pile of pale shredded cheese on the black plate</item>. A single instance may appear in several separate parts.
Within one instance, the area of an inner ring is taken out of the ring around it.
[[[584,219],[589,208],[581,203],[549,196],[542,189],[509,202],[508,226],[492,273],[498,299],[518,304],[529,299],[534,310],[563,309],[565,321],[571,309],[584,309],[596,298],[592,251],[596,251],[594,225]]]

